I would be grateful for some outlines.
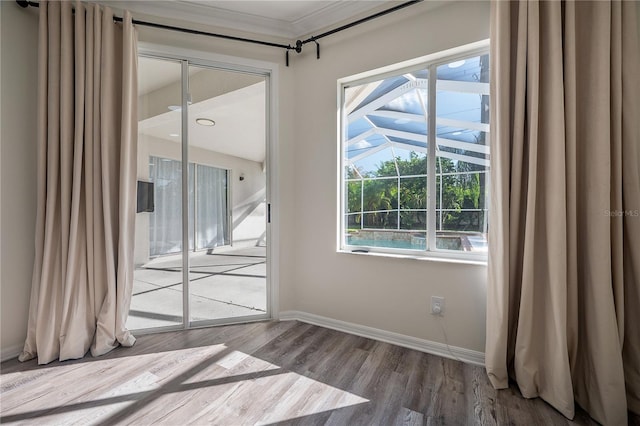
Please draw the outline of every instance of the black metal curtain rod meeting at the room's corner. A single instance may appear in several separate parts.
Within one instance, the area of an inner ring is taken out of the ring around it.
[[[158,23],[155,23],[155,22],[140,21],[140,20],[137,20],[137,19],[132,19],[131,21],[132,21],[132,23],[134,25],[141,25],[141,26],[145,26],[145,27],[159,28],[159,29],[169,30],[169,31],[179,31],[179,32],[183,32],[183,33],[204,35],[204,36],[208,36],[208,37],[217,37],[217,38],[223,38],[223,39],[226,39],[226,40],[233,40],[233,41],[241,41],[241,42],[244,42],[244,43],[259,44],[259,45],[262,45],[262,46],[278,47],[280,49],[285,49],[286,50],[285,60],[286,60],[286,65],[289,66],[289,51],[290,50],[295,50],[296,53],[300,53],[300,52],[302,52],[302,46],[303,45],[305,45],[307,43],[314,42],[316,44],[316,59],[320,59],[320,44],[318,43],[319,39],[327,37],[327,36],[330,36],[332,34],[340,32],[340,31],[344,31],[344,30],[349,29],[351,27],[355,27],[356,25],[363,24],[365,22],[371,21],[373,19],[379,18],[381,16],[387,15],[387,14],[395,12],[397,10],[404,9],[407,6],[411,6],[413,4],[420,3],[422,1],[423,0],[407,1],[405,3],[402,3],[402,4],[399,4],[399,5],[394,6],[392,8],[380,11],[378,13],[375,13],[373,15],[367,16],[365,18],[358,19],[357,21],[351,22],[349,24],[343,25],[343,26],[335,28],[333,30],[326,31],[326,32],[324,32],[324,33],[322,33],[320,35],[309,37],[306,40],[296,40],[295,46],[292,46],[290,44],[272,43],[272,42],[264,41],[264,40],[255,40],[255,39],[251,39],[251,38],[236,37],[236,36],[231,36],[231,35],[227,35],[227,34],[218,34],[218,33],[206,32],[206,31],[192,30],[190,28],[174,27],[174,26],[171,26],[171,25],[158,24]],[[16,3],[18,3],[18,5],[20,7],[23,7],[23,8],[27,8],[29,6],[40,7],[40,4],[38,2],[36,2],[36,1],[16,0]],[[116,21],[116,22],[122,22],[122,18],[118,17],[118,16],[114,16],[113,20]]]

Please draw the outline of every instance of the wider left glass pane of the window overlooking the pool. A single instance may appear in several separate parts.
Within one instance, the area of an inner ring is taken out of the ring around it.
[[[345,89],[346,244],[426,248],[427,78],[424,69]]]

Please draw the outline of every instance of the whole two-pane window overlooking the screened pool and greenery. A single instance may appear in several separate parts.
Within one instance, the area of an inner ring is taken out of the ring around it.
[[[340,248],[486,256],[486,50],[345,79],[340,88]]]

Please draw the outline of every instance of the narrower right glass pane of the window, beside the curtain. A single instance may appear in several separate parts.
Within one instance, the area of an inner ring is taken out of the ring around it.
[[[488,55],[438,67],[436,248],[486,251]]]

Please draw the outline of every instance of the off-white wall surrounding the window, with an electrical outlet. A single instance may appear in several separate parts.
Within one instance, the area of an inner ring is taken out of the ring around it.
[[[486,266],[336,253],[336,80],[489,37],[489,3],[424,2],[321,41],[292,61],[297,310],[484,352]]]

